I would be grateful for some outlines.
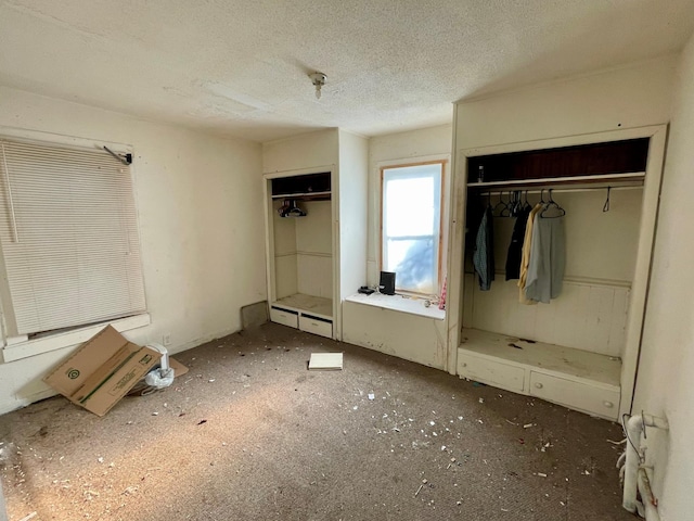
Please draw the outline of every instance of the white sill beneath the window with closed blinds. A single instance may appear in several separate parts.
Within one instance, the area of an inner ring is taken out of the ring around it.
[[[82,329],[56,333],[42,339],[27,340],[26,342],[5,346],[2,350],[2,359],[7,364],[9,361],[16,361],[22,358],[50,353],[51,351],[62,350],[63,347],[69,347],[70,345],[81,344],[107,325],[113,326],[118,332],[123,332],[149,326],[151,322],[150,314],[144,313],[142,315],[136,315],[134,317],[120,318]]]

